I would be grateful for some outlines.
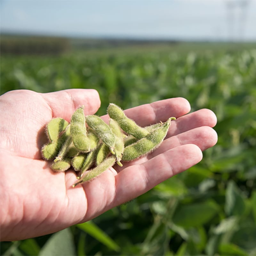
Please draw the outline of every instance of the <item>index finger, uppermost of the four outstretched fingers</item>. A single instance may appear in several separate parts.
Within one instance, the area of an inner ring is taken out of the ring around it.
[[[140,126],[164,122],[169,117],[179,117],[190,111],[190,104],[184,98],[172,98],[159,100],[150,104],[141,105],[124,110],[127,117],[133,119]],[[106,122],[108,116],[102,116]]]

